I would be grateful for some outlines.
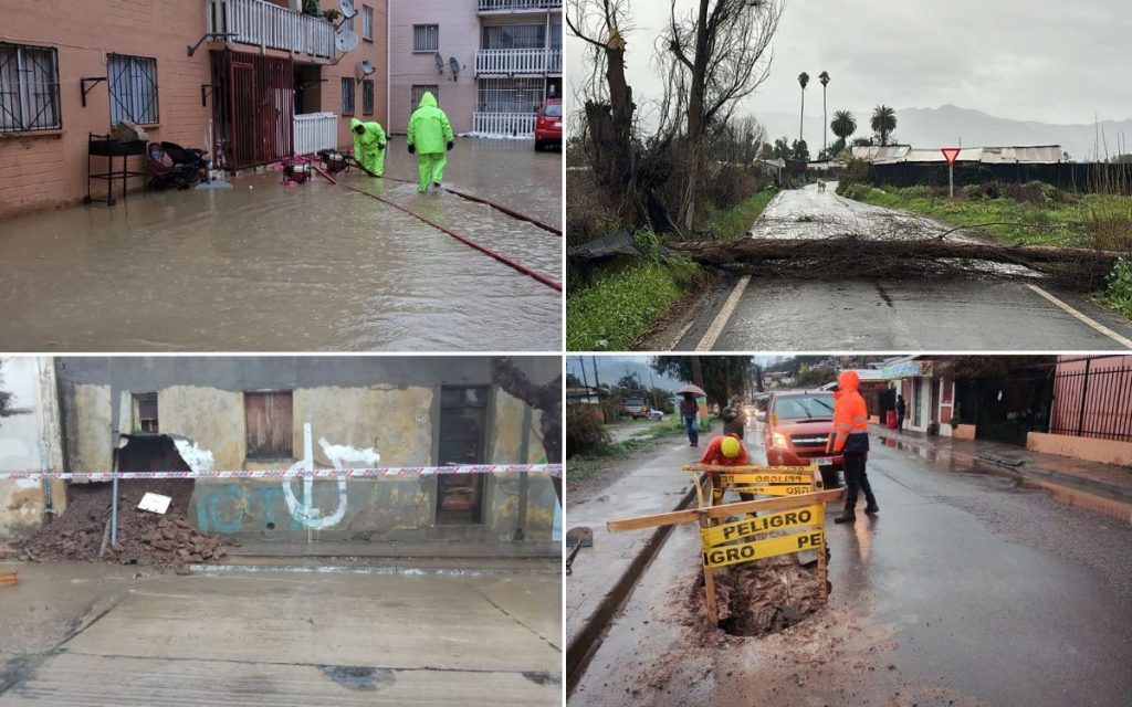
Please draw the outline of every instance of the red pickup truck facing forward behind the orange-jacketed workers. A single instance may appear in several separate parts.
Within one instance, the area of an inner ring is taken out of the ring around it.
[[[817,464],[826,489],[840,485],[844,457],[830,455],[825,443],[833,429],[833,394],[824,390],[774,393],[766,406],[766,462],[771,466]]]

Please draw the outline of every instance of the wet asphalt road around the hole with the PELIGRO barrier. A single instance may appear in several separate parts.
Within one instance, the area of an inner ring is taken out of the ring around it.
[[[874,445],[880,516],[827,521],[829,605],[774,636],[689,610],[677,527],[569,704],[1129,704],[1132,527],[931,457]]]

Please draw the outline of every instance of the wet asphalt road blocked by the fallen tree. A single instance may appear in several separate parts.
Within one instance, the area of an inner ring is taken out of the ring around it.
[[[935,238],[927,218],[815,186],[780,192],[755,238]],[[952,233],[952,240],[977,240]],[[1002,267],[1002,266],[997,266]],[[988,267],[993,269],[993,267]],[[1073,310],[1073,311],[1070,311]],[[1132,322],[1035,279],[726,279],[653,339],[672,351],[1096,351],[1132,347]]]

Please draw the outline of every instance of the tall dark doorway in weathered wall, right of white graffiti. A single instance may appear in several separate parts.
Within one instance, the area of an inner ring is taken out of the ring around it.
[[[490,390],[487,386],[445,386],[440,389],[440,466],[487,460]],[[484,481],[483,474],[439,474],[437,524],[483,523]]]

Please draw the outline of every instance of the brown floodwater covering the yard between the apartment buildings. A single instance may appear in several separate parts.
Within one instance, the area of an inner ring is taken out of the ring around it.
[[[404,138],[386,175],[415,180]],[[351,170],[381,196],[556,282],[561,239],[452,193]],[[131,193],[0,222],[0,351],[543,351],[560,293],[316,178]],[[561,223],[561,155],[461,139],[447,186]]]

